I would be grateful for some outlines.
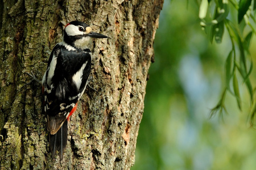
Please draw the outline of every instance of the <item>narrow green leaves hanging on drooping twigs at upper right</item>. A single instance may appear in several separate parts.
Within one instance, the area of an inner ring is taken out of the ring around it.
[[[250,74],[253,70],[253,61],[250,56],[249,46],[251,37],[255,33],[254,26],[254,7],[250,7],[251,0],[240,0],[238,3],[235,0],[216,0],[216,1],[202,0],[199,9],[199,18],[201,19],[201,27],[209,35],[210,42],[215,41],[220,43],[222,41],[224,31],[228,31],[230,41],[232,42],[232,49],[226,58],[226,87],[224,88],[224,94],[226,91],[230,92],[236,97],[237,105],[240,111],[241,96],[240,86],[238,83],[238,76],[243,79],[246,85],[247,91],[250,95],[250,103],[254,103],[254,91],[251,85]],[[210,10],[214,8],[214,14],[210,14]],[[230,11],[232,8],[232,11]],[[236,12],[238,20],[230,17],[230,12]],[[230,87],[230,82],[232,87]],[[215,113],[221,113],[225,108],[225,96],[222,95],[220,101],[212,109],[211,116]],[[252,109],[253,111],[253,109]],[[251,112],[251,117],[254,117],[255,112]]]

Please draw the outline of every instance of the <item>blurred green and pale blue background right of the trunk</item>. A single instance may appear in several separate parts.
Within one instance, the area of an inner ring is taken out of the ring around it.
[[[221,44],[210,44],[198,15],[196,1],[164,2],[132,170],[256,169],[256,130],[249,124],[250,101],[242,79],[242,112],[228,93],[229,114],[209,118],[224,90],[225,59],[232,46],[226,31]],[[255,46],[254,38],[254,63]],[[255,69],[250,75],[255,87],[253,75]]]

